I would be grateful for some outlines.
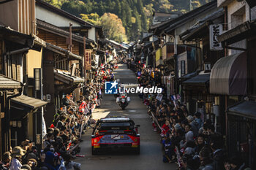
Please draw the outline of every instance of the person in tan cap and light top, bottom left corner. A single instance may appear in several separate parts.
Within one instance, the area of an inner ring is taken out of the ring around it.
[[[12,162],[10,166],[10,170],[20,170],[22,164],[20,163],[23,155],[26,154],[26,150],[23,150],[21,147],[14,147],[12,149]]]

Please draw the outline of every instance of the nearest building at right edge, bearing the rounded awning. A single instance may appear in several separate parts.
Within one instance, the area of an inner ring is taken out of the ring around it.
[[[213,81],[212,91],[225,96],[230,155],[240,153],[249,167],[256,169],[256,3],[222,0],[218,4],[227,9],[228,24],[227,31],[217,37],[226,53],[214,65],[211,77],[218,82]],[[219,72],[222,75],[218,75]]]

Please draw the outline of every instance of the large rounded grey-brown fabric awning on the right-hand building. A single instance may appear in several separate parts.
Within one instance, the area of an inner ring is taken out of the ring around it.
[[[211,69],[210,93],[246,95],[246,53],[220,58]]]

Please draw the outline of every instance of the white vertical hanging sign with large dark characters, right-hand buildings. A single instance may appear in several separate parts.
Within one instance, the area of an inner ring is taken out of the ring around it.
[[[216,24],[210,26],[210,50],[218,51],[223,50],[222,43],[218,41],[217,36],[222,34],[222,24]]]

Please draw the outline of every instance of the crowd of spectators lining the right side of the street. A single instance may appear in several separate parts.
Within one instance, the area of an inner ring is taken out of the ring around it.
[[[141,86],[162,88],[160,98],[157,94],[139,96],[148,106],[153,130],[161,136],[164,163],[177,163],[182,170],[249,170],[241,155],[227,154],[223,136],[211,120],[202,120],[200,112],[191,113],[180,101],[167,98],[159,69],[132,60],[127,64]]]

